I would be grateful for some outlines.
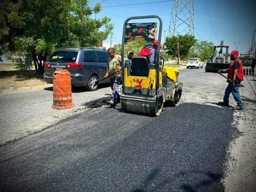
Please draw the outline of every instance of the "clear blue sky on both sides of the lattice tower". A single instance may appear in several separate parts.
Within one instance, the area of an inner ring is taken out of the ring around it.
[[[163,21],[163,31],[169,29],[173,1],[90,0],[89,6],[93,7],[96,2],[102,2],[102,10],[97,18],[109,17],[114,24],[112,43],[121,42],[123,24],[133,16],[156,14]],[[223,40],[225,45],[230,46],[229,52],[237,49],[239,53],[247,53],[256,30],[255,8],[255,0],[194,0],[194,36],[199,41],[213,42],[214,45],[219,45]],[[165,32],[167,35],[168,30]],[[161,43],[163,41],[164,38]],[[110,38],[106,42],[110,42]]]

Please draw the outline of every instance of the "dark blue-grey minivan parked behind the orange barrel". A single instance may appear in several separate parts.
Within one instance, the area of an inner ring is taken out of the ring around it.
[[[86,86],[87,90],[95,91],[95,82],[103,79],[106,74],[107,51],[100,48],[58,48],[45,62],[43,79],[53,83],[53,73],[56,68],[65,68],[71,73],[72,86]],[[109,79],[99,83],[109,82]]]

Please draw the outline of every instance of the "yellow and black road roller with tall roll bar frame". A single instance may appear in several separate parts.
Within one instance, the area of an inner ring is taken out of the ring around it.
[[[162,21],[158,16],[130,17],[124,23],[124,31],[127,22],[131,19],[148,18],[159,19],[156,63],[148,63],[147,58],[142,56],[132,57],[131,62],[125,62],[120,98],[122,109],[126,111],[158,116],[163,110],[164,103],[170,106],[180,104],[183,83],[178,81],[179,71],[176,68],[164,67],[163,58],[159,65]],[[122,60],[124,60],[124,33],[121,47]]]

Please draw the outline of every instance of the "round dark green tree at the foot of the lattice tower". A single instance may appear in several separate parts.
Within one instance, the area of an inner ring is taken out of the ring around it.
[[[178,35],[173,37],[166,37],[165,39],[165,50],[172,57],[178,57],[177,45],[179,42],[179,52],[181,58],[186,58],[189,55],[189,50],[196,43],[194,36],[190,35]]]

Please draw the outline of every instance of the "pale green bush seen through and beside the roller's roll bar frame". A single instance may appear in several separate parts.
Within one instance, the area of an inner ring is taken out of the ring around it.
[[[140,50],[144,47],[147,42],[144,39],[135,39],[134,41],[130,41],[125,43],[124,57],[127,56],[129,51],[134,52],[134,56],[139,55]],[[121,54],[121,44],[116,44],[114,46],[115,51],[118,55]]]

